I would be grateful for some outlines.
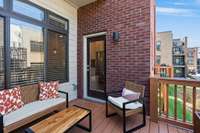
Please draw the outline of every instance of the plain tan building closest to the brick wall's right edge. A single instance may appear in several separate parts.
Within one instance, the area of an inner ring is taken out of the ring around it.
[[[172,66],[172,31],[158,32],[156,36],[156,65]]]

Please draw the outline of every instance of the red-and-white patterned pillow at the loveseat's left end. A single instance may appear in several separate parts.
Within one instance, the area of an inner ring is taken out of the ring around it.
[[[21,89],[19,86],[0,91],[0,113],[8,114],[21,108],[24,105],[22,101]]]

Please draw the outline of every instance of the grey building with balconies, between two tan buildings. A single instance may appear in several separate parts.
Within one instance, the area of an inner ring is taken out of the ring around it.
[[[173,66],[174,77],[186,77],[186,57],[185,49],[187,48],[187,37],[184,39],[173,39]]]

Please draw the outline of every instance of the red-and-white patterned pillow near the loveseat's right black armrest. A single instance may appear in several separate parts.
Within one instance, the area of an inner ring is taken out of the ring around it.
[[[47,100],[52,98],[58,98],[58,81],[51,81],[51,82],[40,82],[39,88],[40,88],[40,100]]]

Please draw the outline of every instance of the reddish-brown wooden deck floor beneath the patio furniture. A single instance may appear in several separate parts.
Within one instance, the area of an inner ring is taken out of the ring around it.
[[[122,119],[119,116],[110,118],[105,117],[105,105],[101,103],[91,102],[87,100],[77,99],[70,102],[71,105],[79,105],[92,110],[92,133],[122,133]],[[140,116],[133,116],[128,119],[131,126],[139,124]],[[87,125],[88,120],[84,120],[81,124]],[[77,127],[72,128],[70,133],[87,133]],[[144,128],[136,131],[135,133],[192,133],[191,130],[182,129],[174,125],[164,122],[154,123],[150,122],[147,118],[147,124]]]

